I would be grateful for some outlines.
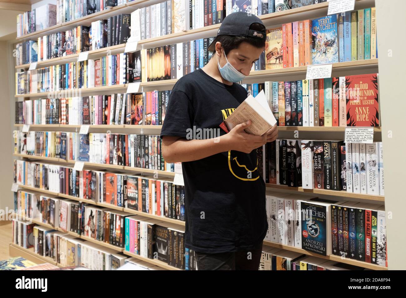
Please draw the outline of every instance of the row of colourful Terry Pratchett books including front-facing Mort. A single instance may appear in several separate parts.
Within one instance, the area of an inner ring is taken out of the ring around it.
[[[266,69],[378,58],[375,7],[267,30]]]

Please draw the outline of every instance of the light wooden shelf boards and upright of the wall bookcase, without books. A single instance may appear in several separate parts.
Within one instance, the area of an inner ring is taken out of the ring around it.
[[[382,43],[388,39],[388,36],[382,36],[381,32],[385,32],[386,28],[388,28],[389,24],[385,24],[386,21],[383,21],[386,17],[387,12],[384,8],[385,1],[383,0],[356,0],[355,1],[355,8],[354,10],[358,9],[366,9],[370,7],[376,7],[376,15],[378,24],[379,24],[379,38],[378,38],[378,52],[379,58],[375,59],[368,59],[368,60],[355,60],[355,61],[348,61],[348,62],[337,62],[333,63],[332,65],[332,74],[331,77],[340,77],[340,76],[347,76],[347,75],[361,75],[361,74],[369,74],[369,73],[379,73],[379,104],[380,104],[380,117],[379,120],[382,121],[382,126],[374,127],[374,141],[376,142],[383,142],[385,148],[385,182],[389,181],[391,178],[395,178],[393,173],[391,172],[392,165],[395,165],[395,161],[392,160],[391,153],[394,152],[394,149],[391,148],[392,141],[386,137],[388,127],[384,125],[392,124],[395,122],[391,118],[390,114],[392,113],[389,111],[389,107],[387,107],[388,98],[393,98],[391,95],[391,91],[389,88],[389,81],[393,75],[389,75],[389,62],[387,61],[389,58],[385,56],[385,52],[387,51],[386,48],[382,47]],[[65,30],[70,30],[76,28],[78,26],[90,26],[93,21],[98,21],[102,19],[108,19],[111,16],[122,14],[122,13],[131,13],[136,9],[140,9],[145,6],[149,6],[151,4],[158,3],[154,0],[134,0],[132,2],[128,2],[125,4],[121,4],[103,11],[99,11],[97,13],[93,13],[91,15],[81,17],[78,19],[74,19],[72,21],[68,21],[62,24],[57,24],[55,26],[45,28],[43,30],[35,31],[30,34],[22,35],[17,38],[17,42],[27,41],[27,40],[36,40],[38,37],[52,34],[56,32],[61,32]],[[287,22],[295,22],[295,21],[302,21],[304,19],[316,19],[318,17],[323,17],[327,15],[328,11],[328,3],[329,2],[322,2],[319,4],[313,4],[308,6],[303,6],[295,9],[290,9],[287,11],[279,11],[274,13],[268,13],[266,15],[260,15],[259,18],[263,21],[266,28],[276,28],[280,27],[281,24]],[[403,5],[403,4],[402,4]],[[175,43],[183,43],[186,41],[191,41],[195,39],[201,38],[208,38],[210,36],[215,36],[217,33],[218,28],[220,28],[220,24],[205,26],[203,28],[192,29],[192,30],[185,30],[183,32],[177,32],[167,35],[162,35],[158,37],[153,37],[149,39],[142,39],[138,41],[137,49],[148,49],[151,47],[160,47],[169,44]],[[404,41],[402,41],[404,43]],[[113,45],[110,47],[104,47],[102,49],[95,49],[90,50],[88,53],[88,59],[99,59],[106,55],[112,54],[120,54],[124,53],[125,51],[125,44],[120,45]],[[395,53],[395,51],[393,51]],[[382,54],[382,55],[381,55]],[[76,62],[78,59],[79,54],[71,54],[62,57],[52,58],[48,60],[43,60],[37,62],[37,68],[41,67],[48,67],[57,64],[65,64],[70,62]],[[382,60],[384,59],[385,65],[382,66]],[[30,64],[22,64],[15,66],[15,70],[17,72],[28,70]],[[383,69],[382,69],[383,68]],[[270,69],[270,70],[260,70],[260,71],[251,71],[250,75],[247,76],[243,84],[251,84],[251,83],[263,83],[265,81],[292,81],[292,80],[304,80],[306,77],[307,66],[299,66],[299,67],[291,67],[291,68],[282,68],[282,69]],[[177,82],[177,79],[168,79],[162,81],[142,81],[140,82],[138,92],[147,92],[152,90],[170,90],[172,86]],[[112,93],[125,93],[129,84],[119,84],[113,86],[99,86],[99,87],[92,87],[92,88],[81,88],[80,93],[81,96],[93,96],[93,95],[111,95]],[[78,91],[78,90],[71,90],[71,91]],[[38,98],[46,98],[48,96],[48,92],[40,92],[40,93],[28,93],[28,94],[15,94],[16,101],[26,101],[30,99],[38,99]],[[389,116],[388,116],[389,113]],[[381,122],[380,122],[381,123]],[[76,132],[78,133],[81,125],[69,125],[69,124],[31,124],[28,127],[24,124],[15,124],[15,130],[22,130],[25,128],[27,131],[63,131],[63,132]],[[145,135],[159,135],[161,131],[162,125],[127,125],[127,124],[119,124],[119,125],[89,125],[89,133],[99,133],[106,131],[112,131],[113,133],[123,133],[123,134],[145,134]],[[385,128],[385,129],[384,129]],[[344,139],[346,127],[344,126],[279,126],[279,139]],[[391,128],[393,133],[395,133],[394,128]],[[393,154],[395,155],[395,154]],[[72,161],[69,159],[62,159],[62,158],[55,158],[55,157],[41,157],[35,155],[27,155],[27,154],[13,154],[14,159],[24,159],[28,161],[40,161],[41,163],[49,163],[49,164],[57,164],[62,167],[74,167],[76,161]],[[145,169],[143,167],[129,167],[125,165],[106,165],[106,164],[98,164],[98,163],[91,163],[91,162],[84,162],[84,170],[86,169],[93,169],[103,171],[106,170],[107,172],[114,172],[119,174],[128,174],[128,175],[145,175],[145,176],[152,176],[154,175],[155,179],[173,179],[175,177],[175,172],[168,172],[164,170],[154,170],[154,169]],[[388,170],[389,169],[389,170]],[[322,199],[337,199],[341,201],[343,199],[352,201],[352,202],[362,202],[365,204],[379,204],[380,206],[384,205],[385,210],[389,210],[388,206],[394,207],[396,206],[394,202],[391,202],[388,205],[387,201],[387,194],[394,193],[393,190],[391,191],[391,185],[393,182],[388,182],[386,184],[387,191],[385,196],[383,195],[371,195],[371,194],[362,194],[362,193],[350,193],[348,191],[334,191],[329,189],[304,189],[303,187],[287,187],[286,185],[278,185],[278,184],[270,184],[266,183],[266,187],[268,191],[278,191],[282,193],[289,193],[289,194],[300,194],[300,195],[312,195],[317,196]],[[73,201],[81,201],[89,204],[94,204],[100,208],[110,208],[119,212],[127,212],[132,215],[142,215],[143,217],[147,217],[149,220],[159,220],[160,222],[164,222],[168,225],[172,225],[175,227],[179,227],[179,229],[184,229],[185,222],[167,218],[160,215],[149,214],[147,212],[140,212],[134,209],[125,208],[124,206],[117,206],[107,203],[99,203],[99,202],[91,202],[89,200],[83,200],[78,197],[72,195],[66,195],[65,193],[55,193],[52,191],[47,191],[44,189],[38,189],[35,187],[18,184],[19,189],[27,190],[27,191],[35,191],[44,195],[53,195],[55,197],[71,199]],[[390,208],[391,208],[390,207]],[[394,209],[391,209],[394,210]],[[50,227],[52,229],[56,229],[57,231],[63,231],[59,227],[52,227],[49,224],[43,223],[39,219],[31,219],[33,223],[37,225],[41,225],[43,227]],[[389,223],[387,221],[387,238],[391,238],[391,235],[394,236],[395,232],[391,229],[395,229],[395,223]],[[97,241],[94,238],[90,238],[88,236],[78,235],[78,233],[68,232],[69,235],[76,236],[77,238],[81,238],[83,240],[88,240],[90,242],[94,242],[100,244],[108,249],[116,250],[118,253],[122,252],[129,257],[135,257],[152,265],[158,266],[160,268],[168,269],[168,270],[179,270],[179,268],[175,268],[174,266],[169,266],[165,262],[162,262],[157,259],[151,259],[148,257],[142,257],[136,253],[131,253],[126,251],[122,247],[117,247],[112,244],[108,244],[106,242]],[[378,264],[373,264],[371,262],[361,262],[356,259],[350,258],[343,258],[338,255],[327,255],[322,256],[316,253],[312,253],[310,251],[304,250],[302,248],[289,246],[285,244],[271,242],[269,240],[264,240],[263,242],[264,247],[274,247],[279,249],[285,249],[287,251],[292,251],[296,253],[302,253],[307,256],[315,256],[321,257],[331,261],[337,261],[349,265],[359,266],[363,268],[367,268],[370,270],[387,270],[387,266],[379,266]],[[391,264],[391,261],[397,255],[396,252],[391,255],[392,250],[391,246],[397,246],[399,244],[395,244],[394,241],[389,242],[389,246],[387,248],[387,255],[391,257],[390,261],[387,261],[387,264]],[[36,253],[34,253],[34,249],[24,249],[16,244],[10,243],[9,245],[10,255],[24,255],[24,257],[28,259],[32,259],[33,261],[37,261],[41,259],[42,261],[49,262],[51,264],[59,266],[58,263],[54,261],[54,259],[50,257],[42,257]],[[395,251],[395,250],[394,250]],[[390,266],[389,265],[389,266]],[[390,267],[389,267],[390,268]]]

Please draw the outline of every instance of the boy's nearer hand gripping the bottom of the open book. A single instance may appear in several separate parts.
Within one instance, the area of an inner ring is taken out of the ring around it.
[[[268,134],[264,133],[263,135],[251,135],[246,133],[244,129],[251,125],[251,120],[243,122],[235,126],[229,133],[227,133],[227,141],[229,142],[230,150],[241,151],[244,153],[250,153],[252,150],[261,147],[262,145],[268,142]],[[268,132],[271,132],[273,137],[275,128],[272,127]],[[276,136],[277,136],[276,129]],[[276,139],[276,137],[275,137]]]

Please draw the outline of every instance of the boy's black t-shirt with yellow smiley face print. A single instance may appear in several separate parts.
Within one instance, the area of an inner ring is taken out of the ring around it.
[[[202,69],[184,75],[169,97],[161,138],[224,135],[219,124],[246,97],[241,85],[222,84]],[[212,135],[203,129],[212,129]],[[231,150],[183,162],[182,172],[185,247],[201,253],[223,253],[253,249],[262,242],[268,223],[265,183],[259,176],[256,150],[250,154]]]

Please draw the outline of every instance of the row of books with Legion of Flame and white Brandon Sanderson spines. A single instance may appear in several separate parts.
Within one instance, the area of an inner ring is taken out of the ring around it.
[[[276,139],[257,149],[265,182],[384,195],[382,142]]]

